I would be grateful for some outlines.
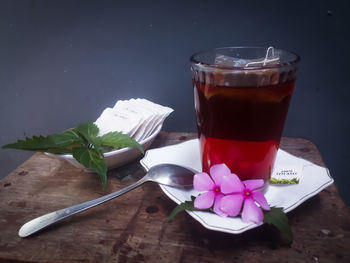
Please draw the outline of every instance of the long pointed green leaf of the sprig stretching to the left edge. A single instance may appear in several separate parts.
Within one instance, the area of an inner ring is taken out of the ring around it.
[[[2,146],[4,149],[20,149],[36,152],[68,153],[74,146],[83,144],[82,138],[73,130],[60,134],[33,136],[25,140]]]

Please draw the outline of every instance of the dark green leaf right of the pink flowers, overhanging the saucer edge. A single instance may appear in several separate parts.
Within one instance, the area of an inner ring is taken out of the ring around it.
[[[264,215],[264,223],[275,226],[285,237],[287,244],[293,242],[293,232],[288,224],[288,217],[282,208],[272,207]]]

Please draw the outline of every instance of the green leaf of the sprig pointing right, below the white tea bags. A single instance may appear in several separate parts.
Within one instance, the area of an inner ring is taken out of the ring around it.
[[[120,132],[109,132],[103,136],[95,138],[95,144],[106,147],[109,150],[123,147],[136,147],[140,152],[144,153],[142,146],[130,138],[129,135]]]

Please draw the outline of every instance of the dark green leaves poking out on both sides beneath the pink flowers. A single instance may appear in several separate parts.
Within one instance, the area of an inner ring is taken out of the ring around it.
[[[174,217],[182,211],[211,211],[209,209],[201,210],[194,207],[194,196],[191,196],[191,201],[185,201],[177,205],[168,217],[168,221],[173,220]],[[288,224],[288,217],[280,207],[271,207],[270,211],[264,210],[264,223],[272,225],[280,231],[283,237],[283,242],[287,245],[293,243],[293,232]]]

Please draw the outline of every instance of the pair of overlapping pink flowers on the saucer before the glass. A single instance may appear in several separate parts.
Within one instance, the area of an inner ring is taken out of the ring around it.
[[[256,224],[263,221],[264,214],[261,209],[270,210],[264,194],[258,190],[263,186],[264,180],[242,182],[225,164],[210,167],[210,175],[211,177],[204,172],[194,175],[194,189],[206,191],[194,200],[195,208],[208,209],[214,205],[213,210],[216,214],[234,217],[241,212],[244,204],[243,221]]]

